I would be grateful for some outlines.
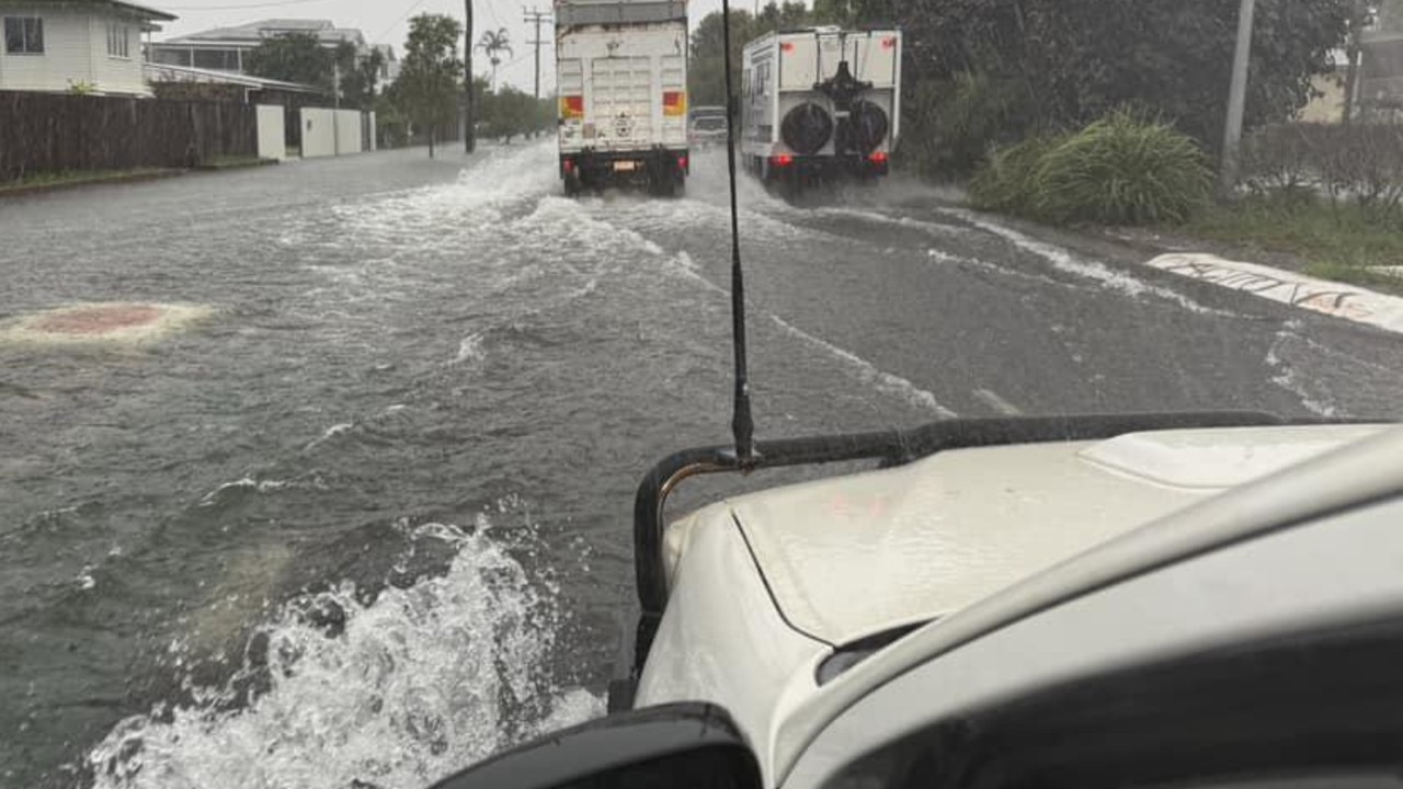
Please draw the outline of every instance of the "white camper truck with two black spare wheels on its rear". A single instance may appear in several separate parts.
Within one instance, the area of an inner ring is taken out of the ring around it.
[[[748,44],[745,168],[787,187],[885,175],[901,133],[901,48],[899,29],[836,27]]]

